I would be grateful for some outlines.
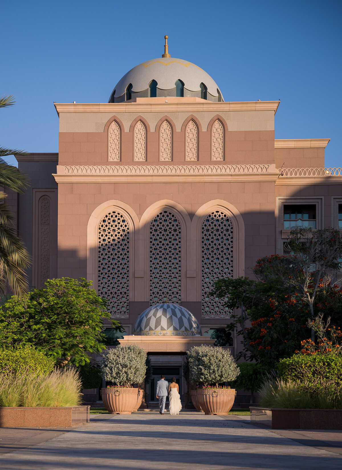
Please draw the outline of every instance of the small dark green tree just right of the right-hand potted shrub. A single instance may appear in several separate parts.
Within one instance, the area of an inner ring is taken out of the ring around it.
[[[241,362],[237,367],[240,369],[240,375],[230,383],[230,386],[251,392],[251,403],[253,403],[254,392],[257,392],[267,379],[266,367],[255,362]]]

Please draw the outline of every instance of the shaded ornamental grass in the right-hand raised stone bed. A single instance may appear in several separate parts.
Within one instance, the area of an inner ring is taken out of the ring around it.
[[[259,404],[266,408],[342,409],[342,384],[334,381],[276,379],[259,390]]]

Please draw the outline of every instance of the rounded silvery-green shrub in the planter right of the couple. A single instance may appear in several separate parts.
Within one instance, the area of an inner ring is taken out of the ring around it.
[[[236,379],[240,371],[229,350],[215,346],[194,346],[187,351],[190,381],[196,384],[219,384]]]

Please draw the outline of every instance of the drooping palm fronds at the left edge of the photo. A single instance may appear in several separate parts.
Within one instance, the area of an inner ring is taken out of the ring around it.
[[[12,95],[0,97],[0,108],[14,103]],[[23,150],[0,147],[0,186],[23,194],[28,186],[27,176],[3,159],[13,154],[27,155]],[[4,203],[6,197],[6,193],[0,191],[0,295],[6,294],[8,286],[15,295],[21,297],[29,287],[25,269],[30,266],[30,255],[16,233],[13,214]]]

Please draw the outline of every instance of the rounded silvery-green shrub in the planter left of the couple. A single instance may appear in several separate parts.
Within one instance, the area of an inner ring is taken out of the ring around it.
[[[146,374],[146,352],[137,345],[107,350],[101,362],[102,377],[115,385],[139,384]]]

